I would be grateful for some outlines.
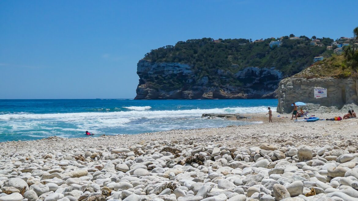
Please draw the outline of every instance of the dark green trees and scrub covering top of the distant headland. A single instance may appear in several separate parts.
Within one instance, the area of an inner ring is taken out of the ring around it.
[[[313,57],[328,51],[325,46],[310,45],[310,39],[306,36],[301,38],[289,40],[285,36],[280,47],[272,48],[269,43],[275,39],[271,38],[255,42],[248,39],[192,39],[151,50],[144,59],[151,62],[189,64],[199,77],[208,76],[209,80],[219,79],[217,70],[234,74],[250,66],[275,67],[284,76],[291,76],[310,66]],[[333,42],[329,38],[321,40],[322,44]]]

